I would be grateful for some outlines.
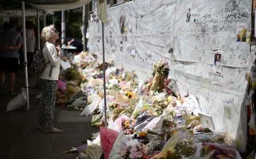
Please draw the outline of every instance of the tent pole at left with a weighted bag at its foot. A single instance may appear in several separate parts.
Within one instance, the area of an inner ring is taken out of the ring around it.
[[[26,93],[27,93],[26,111],[29,111],[30,110],[30,98],[28,96],[26,19],[25,19],[25,2],[24,1],[22,1],[22,26],[23,26],[24,76],[25,76],[25,87],[26,87]]]

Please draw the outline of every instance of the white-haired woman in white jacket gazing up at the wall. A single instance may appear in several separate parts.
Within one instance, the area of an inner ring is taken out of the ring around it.
[[[55,45],[59,39],[59,32],[51,25],[42,30],[44,41],[43,55],[46,60],[46,69],[40,74],[42,97],[39,108],[39,129],[46,133],[61,133],[61,129],[53,127],[53,114],[56,101],[57,80],[60,73],[61,49]]]

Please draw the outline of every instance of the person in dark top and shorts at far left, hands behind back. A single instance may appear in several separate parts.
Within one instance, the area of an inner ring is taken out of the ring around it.
[[[16,31],[17,20],[11,20],[9,28],[1,33],[0,37],[0,85],[5,84],[5,73],[9,72],[10,88],[9,94],[14,91],[15,73],[19,67],[19,53],[23,41],[22,36]]]

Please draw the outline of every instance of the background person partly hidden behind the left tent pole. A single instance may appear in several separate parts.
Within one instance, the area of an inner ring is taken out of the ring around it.
[[[28,66],[31,65],[34,49],[35,49],[35,33],[33,31],[33,23],[26,22],[26,42],[27,42],[27,62]]]

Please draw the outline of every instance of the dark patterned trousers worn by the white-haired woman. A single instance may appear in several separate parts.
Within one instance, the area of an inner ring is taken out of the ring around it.
[[[57,81],[41,80],[42,97],[39,108],[39,125],[45,128],[53,127],[53,114],[56,101]]]

